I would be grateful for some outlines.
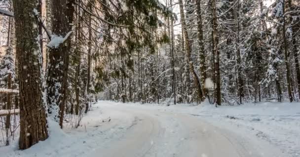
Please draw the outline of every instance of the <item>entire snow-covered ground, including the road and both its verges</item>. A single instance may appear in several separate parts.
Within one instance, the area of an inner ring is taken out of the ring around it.
[[[16,140],[0,147],[1,157],[300,157],[299,103],[216,108],[101,101],[77,129],[48,124],[47,140],[24,151]]]

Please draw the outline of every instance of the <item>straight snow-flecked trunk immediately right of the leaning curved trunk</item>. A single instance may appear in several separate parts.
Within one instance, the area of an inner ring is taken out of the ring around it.
[[[204,39],[203,39],[203,29],[202,29],[202,15],[201,15],[201,0],[197,0],[197,28],[198,28],[198,42],[199,42],[199,57],[200,57],[200,74],[201,74],[201,85],[203,92],[203,99],[207,95],[208,90],[205,89],[205,79],[207,78],[206,74],[206,65],[205,65],[205,52],[204,52]]]

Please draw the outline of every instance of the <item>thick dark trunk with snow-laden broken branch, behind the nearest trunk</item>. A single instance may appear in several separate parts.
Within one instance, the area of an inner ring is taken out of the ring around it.
[[[52,0],[52,36],[49,45],[48,73],[47,73],[47,102],[50,116],[59,121],[63,127],[64,108],[67,96],[67,80],[69,69],[69,55],[71,48],[70,34],[73,24],[73,0]]]

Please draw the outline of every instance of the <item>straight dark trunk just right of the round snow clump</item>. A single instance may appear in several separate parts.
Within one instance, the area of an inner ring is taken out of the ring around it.
[[[216,11],[216,0],[212,0],[212,15],[213,15],[213,44],[214,49],[213,52],[215,54],[215,83],[216,83],[216,103],[217,105],[221,105],[221,76],[220,76],[220,56],[218,51],[218,23],[217,23],[217,11]]]

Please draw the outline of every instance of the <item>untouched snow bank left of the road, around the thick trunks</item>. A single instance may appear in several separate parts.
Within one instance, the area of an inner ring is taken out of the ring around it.
[[[121,138],[134,117],[119,111],[107,112],[99,105],[93,106],[77,129],[67,125],[60,130],[56,122],[48,119],[50,135],[47,140],[23,151],[18,150],[16,140],[10,146],[0,147],[0,157],[85,157],[88,152]]]

